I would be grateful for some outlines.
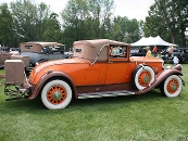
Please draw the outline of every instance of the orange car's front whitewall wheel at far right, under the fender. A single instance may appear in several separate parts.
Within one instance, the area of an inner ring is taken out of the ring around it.
[[[183,81],[177,75],[168,76],[160,87],[161,93],[167,98],[178,97],[183,89]]]

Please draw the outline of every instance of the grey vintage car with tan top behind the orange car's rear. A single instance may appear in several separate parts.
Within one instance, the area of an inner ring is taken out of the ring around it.
[[[22,60],[26,70],[32,70],[39,63],[68,57],[64,54],[64,44],[58,42],[29,41],[20,44],[21,53],[12,55],[12,60]]]

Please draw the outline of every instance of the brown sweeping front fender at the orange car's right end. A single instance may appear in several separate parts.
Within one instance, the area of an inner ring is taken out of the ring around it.
[[[165,80],[168,76],[171,75],[180,75],[183,76],[183,74],[180,73],[180,70],[175,69],[175,68],[171,68],[171,69],[165,69],[163,70],[161,74],[156,75],[155,80],[149,85],[148,87],[146,87],[142,90],[137,90],[135,91],[135,94],[141,94],[141,93],[146,93],[152,89],[154,89],[156,86],[159,86],[163,80]],[[183,81],[184,82],[184,81]]]

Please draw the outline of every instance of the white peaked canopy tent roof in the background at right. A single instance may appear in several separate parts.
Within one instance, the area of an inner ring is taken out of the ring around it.
[[[156,37],[142,37],[140,40],[134,42],[130,44],[131,47],[139,47],[139,46],[176,46],[174,43],[170,43],[167,41],[164,41],[160,36]]]

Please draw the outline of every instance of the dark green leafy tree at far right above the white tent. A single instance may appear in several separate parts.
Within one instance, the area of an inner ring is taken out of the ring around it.
[[[146,35],[160,35],[170,42],[186,47],[187,17],[187,0],[155,0],[146,18],[143,30]]]

